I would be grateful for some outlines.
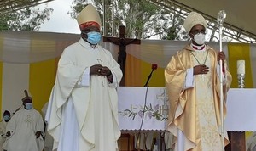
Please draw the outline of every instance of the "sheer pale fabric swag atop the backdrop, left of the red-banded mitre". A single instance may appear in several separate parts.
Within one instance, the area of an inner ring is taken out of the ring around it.
[[[7,63],[27,64],[54,59],[64,48],[79,40],[79,35],[32,32],[1,31],[0,59]]]

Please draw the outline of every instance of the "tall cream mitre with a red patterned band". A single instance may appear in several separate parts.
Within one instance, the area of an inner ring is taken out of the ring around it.
[[[97,25],[100,28],[102,24],[101,17],[96,8],[92,4],[88,4],[79,13],[77,21],[79,23],[79,27],[81,30],[91,25]]]

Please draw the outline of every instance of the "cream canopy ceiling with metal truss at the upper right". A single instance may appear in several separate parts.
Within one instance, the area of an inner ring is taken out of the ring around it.
[[[172,10],[176,9],[176,12],[178,12],[177,8],[186,12],[196,11],[215,23],[218,12],[224,10],[227,14],[224,20],[224,34],[240,42],[256,42],[256,17],[253,13],[256,1],[254,0],[148,0],[148,2]],[[218,27],[212,25],[211,28]]]

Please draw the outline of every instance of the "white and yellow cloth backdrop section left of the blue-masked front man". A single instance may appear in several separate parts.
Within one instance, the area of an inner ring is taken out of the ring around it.
[[[32,96],[36,109],[43,108],[62,50],[78,39],[74,34],[0,32],[1,118],[5,109],[13,113],[21,106],[24,90]]]

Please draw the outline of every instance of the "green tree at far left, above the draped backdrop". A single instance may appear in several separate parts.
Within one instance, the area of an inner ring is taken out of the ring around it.
[[[45,6],[24,8],[15,12],[1,14],[0,31],[38,31],[44,20],[49,20],[52,8]]]

